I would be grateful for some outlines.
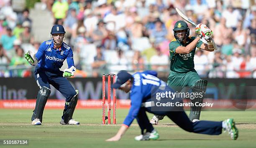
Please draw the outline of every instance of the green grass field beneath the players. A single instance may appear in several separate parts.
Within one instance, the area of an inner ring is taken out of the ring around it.
[[[118,142],[104,140],[115,135],[128,110],[117,110],[118,125],[101,125],[100,109],[76,110],[75,120],[81,125],[60,125],[62,110],[45,110],[43,125],[31,125],[32,110],[0,109],[0,140],[28,139],[29,145],[9,145],[31,148],[255,148],[256,112],[202,112],[202,120],[225,120],[233,117],[239,130],[238,140],[231,140],[228,133],[202,135],[188,133],[164,118],[156,125],[160,138],[151,141],[135,141],[140,134],[136,122]],[[152,115],[149,115],[152,117]],[[113,118],[112,118],[113,119]],[[0,145],[3,147],[3,145]]]

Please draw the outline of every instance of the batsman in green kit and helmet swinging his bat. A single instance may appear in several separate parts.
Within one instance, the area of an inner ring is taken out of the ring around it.
[[[200,79],[197,71],[194,69],[194,56],[196,48],[205,51],[217,50],[214,40],[210,38],[212,31],[204,24],[198,24],[195,28],[197,37],[189,36],[187,23],[179,20],[175,23],[173,33],[175,39],[169,43],[170,50],[170,74],[167,85],[180,92],[184,87],[190,87],[192,92],[205,94],[207,80]],[[203,38],[202,38],[203,37]],[[194,106],[191,106],[189,119],[192,122],[198,121],[201,107],[195,106],[195,102],[203,102],[203,95],[190,97]],[[164,116],[154,115],[151,124],[157,125]]]

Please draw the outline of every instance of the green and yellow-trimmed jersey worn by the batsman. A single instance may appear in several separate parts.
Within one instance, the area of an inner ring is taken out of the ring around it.
[[[194,56],[195,56],[195,49],[194,48],[189,54],[177,54],[175,53],[175,50],[179,46],[187,46],[189,43],[191,43],[195,37],[188,37],[187,43],[183,44],[180,41],[174,39],[169,43],[169,50],[170,50],[170,60],[171,60],[171,66],[170,70],[175,72],[188,72],[194,69]],[[197,48],[200,48],[202,45],[202,41],[199,41],[196,45]]]

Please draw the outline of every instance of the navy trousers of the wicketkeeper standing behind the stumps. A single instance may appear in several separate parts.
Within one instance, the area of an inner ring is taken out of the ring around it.
[[[74,87],[70,84],[69,80],[66,77],[62,76],[63,71],[57,72],[49,72],[44,71],[36,67],[34,71],[34,77],[36,79],[36,83],[38,87],[48,87],[50,88],[50,84],[55,87],[61,94],[66,98],[66,102],[70,102],[70,100],[74,97],[76,91]],[[67,109],[67,105],[65,104],[64,110]]]

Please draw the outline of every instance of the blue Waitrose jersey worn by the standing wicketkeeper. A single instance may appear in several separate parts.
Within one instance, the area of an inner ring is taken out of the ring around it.
[[[36,59],[38,59],[38,67],[53,73],[60,71],[65,59],[69,68],[74,66],[72,48],[64,42],[59,49],[55,49],[52,40],[44,41],[36,53]]]

